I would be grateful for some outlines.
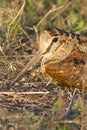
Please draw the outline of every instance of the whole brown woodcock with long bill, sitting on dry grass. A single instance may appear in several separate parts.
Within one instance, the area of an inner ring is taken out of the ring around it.
[[[87,35],[65,32],[55,27],[40,35],[40,53],[33,58],[13,83],[42,57],[42,73],[69,88],[87,88]],[[12,84],[13,84],[12,83]]]

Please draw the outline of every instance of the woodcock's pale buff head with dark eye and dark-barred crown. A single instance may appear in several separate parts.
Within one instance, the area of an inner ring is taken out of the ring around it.
[[[55,27],[48,28],[41,33],[39,48],[42,55],[47,59],[64,59],[72,51],[76,41],[76,35],[65,32]],[[47,54],[47,55],[46,55]]]

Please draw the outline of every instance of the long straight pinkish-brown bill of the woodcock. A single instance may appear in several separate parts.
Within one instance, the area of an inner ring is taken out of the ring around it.
[[[34,65],[37,61],[39,61],[39,59],[41,59],[42,55],[40,54],[40,52],[38,51],[35,56],[26,64],[26,66],[24,67],[24,69],[18,74],[18,76],[13,80],[13,82],[11,83],[11,86],[19,79],[19,77],[21,77],[28,69],[30,69],[32,67],[32,65]]]

